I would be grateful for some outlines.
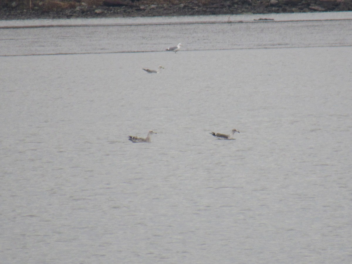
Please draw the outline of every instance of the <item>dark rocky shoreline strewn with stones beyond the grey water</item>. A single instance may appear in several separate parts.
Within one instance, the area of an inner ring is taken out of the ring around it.
[[[64,1],[51,1],[56,3],[51,8],[43,2],[32,2],[37,4],[31,4],[29,8],[8,1],[0,7],[0,20],[352,11],[352,0],[104,0],[98,2],[99,5],[76,0],[70,5],[64,5],[68,3]]]

